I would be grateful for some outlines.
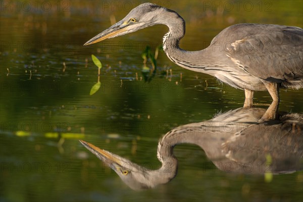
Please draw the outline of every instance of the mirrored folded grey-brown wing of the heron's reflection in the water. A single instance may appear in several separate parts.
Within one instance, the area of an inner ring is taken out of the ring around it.
[[[254,172],[290,172],[302,169],[303,114],[286,114],[281,121],[253,124],[222,144],[226,157],[254,165]],[[266,156],[272,158],[271,165]]]

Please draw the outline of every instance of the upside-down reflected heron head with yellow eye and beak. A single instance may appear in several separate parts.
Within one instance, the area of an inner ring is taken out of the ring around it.
[[[107,166],[112,168],[130,188],[140,190],[153,188],[160,184],[155,178],[158,172],[141,167],[125,158],[102,150],[85,141],[80,140],[80,143]]]

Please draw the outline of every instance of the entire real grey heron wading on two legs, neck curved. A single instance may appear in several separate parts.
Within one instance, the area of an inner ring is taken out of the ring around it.
[[[212,75],[235,88],[244,89],[244,106],[252,104],[254,91],[268,90],[275,105],[263,119],[275,118],[279,87],[303,87],[303,30],[298,27],[238,24],[220,32],[210,46],[200,51],[179,48],[185,21],[176,12],[145,3],[124,19],[99,33],[84,45],[164,24],[167,56],[185,69]]]

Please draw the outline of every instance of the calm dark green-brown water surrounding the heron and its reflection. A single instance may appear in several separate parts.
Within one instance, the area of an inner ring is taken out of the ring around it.
[[[232,24],[303,27],[301,1],[244,1],[239,7],[230,1],[154,3],[185,19],[186,36],[180,46],[188,50],[207,47]],[[184,70],[163,52],[159,53],[156,76],[144,82],[141,52],[146,45],[154,51],[162,43],[167,31],[163,25],[83,47],[111,25],[110,19],[119,21],[137,4],[1,1],[0,200],[302,199],[302,171],[274,175],[270,182],[263,175],[223,172],[193,145],[174,149],[179,160],[175,179],[155,189],[134,191],[80,145],[82,139],[156,168],[160,166],[158,140],[167,131],[243,106],[243,91]],[[89,92],[97,82],[97,68],[91,54],[103,63],[101,87],[92,96]],[[302,89],[282,89],[280,111],[302,113],[302,94]],[[266,108],[271,98],[267,92],[257,92],[254,102]]]

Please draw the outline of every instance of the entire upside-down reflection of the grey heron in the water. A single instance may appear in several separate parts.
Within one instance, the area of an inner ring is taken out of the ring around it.
[[[259,123],[261,108],[239,108],[199,123],[179,126],[159,141],[158,170],[141,167],[118,155],[80,141],[133,189],[152,188],[173,179],[178,161],[173,148],[182,143],[200,146],[221,170],[241,173],[293,172],[302,169],[303,114],[286,114],[280,121]],[[271,166],[265,157],[272,157]],[[286,160],[286,161],[285,161]]]

